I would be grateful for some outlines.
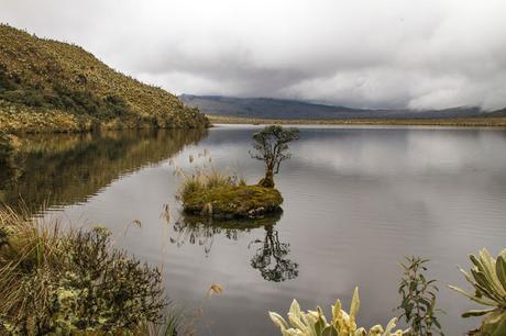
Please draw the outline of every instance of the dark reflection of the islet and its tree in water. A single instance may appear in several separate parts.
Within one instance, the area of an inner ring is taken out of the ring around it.
[[[279,242],[279,233],[274,228],[280,214],[255,220],[218,221],[202,216],[182,214],[174,224],[175,237],[170,243],[180,247],[185,243],[204,246],[206,257],[209,256],[216,235],[238,240],[241,234],[255,228],[264,228],[265,237],[249,244],[249,248],[258,246],[250,265],[257,269],[267,281],[280,282],[298,276],[298,264],[288,258],[289,243]]]

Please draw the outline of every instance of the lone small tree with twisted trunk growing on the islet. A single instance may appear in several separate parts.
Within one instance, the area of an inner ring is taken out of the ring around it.
[[[283,160],[290,158],[288,143],[299,138],[299,130],[284,128],[278,125],[266,126],[253,134],[253,148],[250,152],[252,158],[265,163],[265,177],[258,186],[274,188],[274,175],[279,171]]]

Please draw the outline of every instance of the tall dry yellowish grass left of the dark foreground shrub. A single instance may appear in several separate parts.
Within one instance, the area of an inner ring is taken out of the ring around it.
[[[52,290],[46,283],[63,268],[62,237],[58,222],[50,225],[26,210],[0,212],[0,316],[24,320],[23,331],[33,331],[35,321],[46,318]]]

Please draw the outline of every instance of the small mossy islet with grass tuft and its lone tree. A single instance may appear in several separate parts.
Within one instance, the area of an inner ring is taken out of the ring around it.
[[[252,158],[265,163],[265,177],[249,186],[237,176],[217,170],[198,170],[185,176],[177,198],[183,211],[213,219],[258,219],[282,211],[283,197],[275,189],[274,175],[290,158],[288,143],[298,138],[297,128],[271,125],[253,135]]]

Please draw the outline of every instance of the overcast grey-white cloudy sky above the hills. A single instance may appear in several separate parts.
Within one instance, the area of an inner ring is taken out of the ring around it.
[[[506,107],[504,0],[0,0],[0,21],[177,94]]]

